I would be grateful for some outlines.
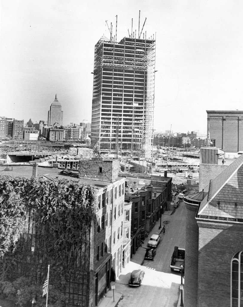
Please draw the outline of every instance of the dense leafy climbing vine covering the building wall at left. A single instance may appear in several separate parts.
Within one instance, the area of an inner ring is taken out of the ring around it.
[[[73,270],[88,269],[95,200],[79,181],[0,176],[0,279],[18,261],[50,264],[61,289]]]

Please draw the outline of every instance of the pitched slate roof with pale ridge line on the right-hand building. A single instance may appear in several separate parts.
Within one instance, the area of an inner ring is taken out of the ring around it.
[[[201,202],[197,218],[234,220],[243,218],[243,155],[215,179],[210,180],[207,197]]]

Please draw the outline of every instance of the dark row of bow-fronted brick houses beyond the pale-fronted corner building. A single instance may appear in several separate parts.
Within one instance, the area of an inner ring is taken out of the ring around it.
[[[172,178],[137,175],[125,179],[125,200],[132,202],[131,257],[172,200]]]

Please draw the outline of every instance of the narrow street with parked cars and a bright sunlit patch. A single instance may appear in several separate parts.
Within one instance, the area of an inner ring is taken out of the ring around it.
[[[121,276],[121,281],[116,283],[116,291],[123,293],[119,301],[119,307],[176,307],[179,299],[179,285],[181,275],[179,272],[171,272],[170,258],[174,246],[185,248],[185,204],[181,200],[178,208],[172,215],[162,215],[162,225],[165,224],[165,235],[161,233],[161,242],[157,247],[154,260],[144,260],[143,265],[133,262],[127,265],[127,271]],[[166,222],[167,223],[163,223]],[[157,222],[152,233],[159,232]],[[150,235],[151,235],[150,234]],[[145,254],[145,244],[144,248]],[[142,285],[137,288],[128,286],[132,270],[140,268],[144,270],[145,276]]]

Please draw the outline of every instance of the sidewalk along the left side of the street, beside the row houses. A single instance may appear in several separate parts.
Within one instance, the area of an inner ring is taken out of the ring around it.
[[[163,227],[163,221],[167,220],[167,216],[171,215],[173,211],[166,211],[162,215],[161,219],[161,226]],[[126,265],[125,268],[121,269],[121,274],[116,278],[116,282],[114,283],[115,285],[118,284],[124,284],[127,285],[131,272],[136,269],[136,265],[139,267],[143,261],[144,261],[144,256],[146,249],[148,248],[148,241],[150,239],[151,234],[161,234],[162,227],[159,229],[160,226],[160,220],[156,222],[154,228],[151,230],[149,233],[148,237],[144,239],[144,243],[137,249],[136,254],[133,255],[133,258],[130,259],[129,263]],[[163,234],[162,234],[163,235]],[[162,237],[163,239],[163,237]],[[119,288],[119,287],[116,287]],[[114,290],[114,297],[113,297],[113,290],[108,290],[107,293],[105,294],[105,297],[100,301],[98,304],[99,307],[116,307],[118,305],[119,300],[122,298],[123,293],[118,291],[118,289]]]

